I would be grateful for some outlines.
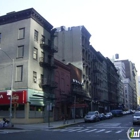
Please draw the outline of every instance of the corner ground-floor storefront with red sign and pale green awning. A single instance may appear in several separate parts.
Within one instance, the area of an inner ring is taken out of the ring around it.
[[[12,122],[44,122],[44,98],[34,97],[35,90],[20,90],[12,93]],[[43,92],[38,92],[43,95]],[[10,95],[0,92],[0,119],[10,115]],[[46,114],[47,118],[47,114]]]

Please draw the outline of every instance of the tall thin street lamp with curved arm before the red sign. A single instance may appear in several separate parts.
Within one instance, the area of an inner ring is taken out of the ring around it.
[[[10,94],[10,114],[9,114],[9,121],[12,122],[12,92],[13,92],[13,73],[14,73],[14,59],[12,59],[4,50],[0,48],[2,51],[11,61],[12,61],[12,71],[11,71],[11,94]],[[11,123],[12,124],[12,123]]]

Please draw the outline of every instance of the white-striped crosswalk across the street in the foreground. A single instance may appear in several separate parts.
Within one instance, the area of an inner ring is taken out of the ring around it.
[[[120,133],[126,133],[127,129],[126,128],[92,128],[92,127],[69,127],[69,128],[64,128],[64,129],[46,129],[44,131],[50,131],[50,132],[60,132],[60,133],[115,133],[115,134],[120,134]]]

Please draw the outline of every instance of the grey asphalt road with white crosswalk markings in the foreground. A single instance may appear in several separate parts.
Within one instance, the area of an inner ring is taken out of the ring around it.
[[[0,132],[0,140],[128,140],[126,133],[130,127],[140,129],[140,125],[133,126],[132,115],[127,115],[63,129],[4,131]]]

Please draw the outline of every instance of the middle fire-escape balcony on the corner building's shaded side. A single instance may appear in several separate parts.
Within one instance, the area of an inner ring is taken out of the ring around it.
[[[39,63],[40,63],[40,66],[42,66],[42,67],[47,67],[47,68],[50,68],[50,69],[56,69],[57,68],[54,64],[52,64],[51,61],[45,61],[45,59],[43,57],[39,58]]]

